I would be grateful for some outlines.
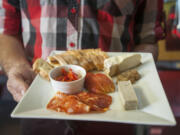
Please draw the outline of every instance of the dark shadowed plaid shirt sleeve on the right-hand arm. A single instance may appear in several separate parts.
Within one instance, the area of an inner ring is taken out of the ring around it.
[[[154,44],[163,38],[163,0],[144,0],[135,15],[135,44]]]

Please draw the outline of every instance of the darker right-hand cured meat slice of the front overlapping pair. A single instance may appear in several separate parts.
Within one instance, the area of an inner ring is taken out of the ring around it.
[[[92,111],[106,111],[112,103],[112,97],[105,94],[81,92],[77,96],[81,102],[89,105]]]

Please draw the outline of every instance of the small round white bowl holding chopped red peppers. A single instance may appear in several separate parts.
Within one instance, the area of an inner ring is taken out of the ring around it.
[[[78,80],[70,81],[70,82],[55,80],[56,77],[61,75],[62,68],[65,69],[66,71],[69,71],[69,69],[72,69],[74,73],[80,75],[80,78]],[[55,67],[49,73],[50,82],[54,90],[60,91],[66,94],[75,94],[82,91],[84,87],[85,76],[86,76],[86,70],[77,65],[64,65],[64,66]]]

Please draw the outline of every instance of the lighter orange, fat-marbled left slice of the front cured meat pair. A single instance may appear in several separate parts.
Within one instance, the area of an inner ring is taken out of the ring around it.
[[[76,95],[66,95],[58,92],[48,103],[47,109],[68,114],[80,114],[88,113],[90,106],[79,101]]]

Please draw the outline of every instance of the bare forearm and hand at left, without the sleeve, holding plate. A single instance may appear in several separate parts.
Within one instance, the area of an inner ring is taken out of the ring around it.
[[[7,77],[7,88],[16,101],[19,101],[33,78],[34,72],[28,61],[21,42],[13,36],[0,35],[0,65]]]

